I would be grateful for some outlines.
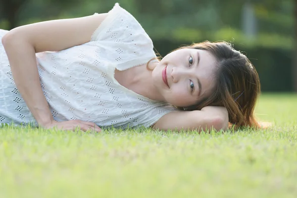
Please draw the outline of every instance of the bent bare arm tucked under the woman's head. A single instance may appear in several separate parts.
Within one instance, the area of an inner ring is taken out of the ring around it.
[[[200,111],[174,111],[164,115],[154,129],[161,130],[205,130],[212,127],[219,131],[228,127],[228,112],[225,107],[208,106]]]

